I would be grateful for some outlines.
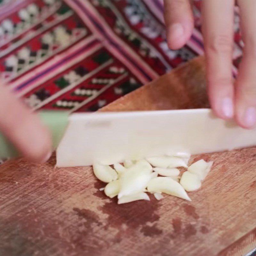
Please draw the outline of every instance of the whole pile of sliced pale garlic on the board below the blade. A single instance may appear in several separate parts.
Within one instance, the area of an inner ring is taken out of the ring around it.
[[[202,180],[210,172],[213,162],[203,159],[188,166],[190,154],[170,153],[138,161],[126,160],[123,165],[93,164],[95,176],[108,183],[104,189],[106,196],[117,196],[118,204],[137,200],[150,200],[145,192],[154,194],[157,200],[162,199],[162,193],[177,196],[191,201],[186,191],[194,191],[201,187]],[[188,168],[180,178],[177,167]],[[158,176],[160,175],[160,176]],[[180,183],[179,183],[180,180]]]

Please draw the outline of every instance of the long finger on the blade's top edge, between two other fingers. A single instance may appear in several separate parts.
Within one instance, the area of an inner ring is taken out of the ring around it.
[[[208,95],[212,110],[223,119],[234,116],[232,78],[234,1],[202,1]]]

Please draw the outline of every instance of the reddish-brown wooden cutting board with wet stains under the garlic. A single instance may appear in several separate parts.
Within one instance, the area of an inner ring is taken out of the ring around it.
[[[200,57],[102,111],[208,107]],[[111,146],[109,148],[111,150]],[[86,153],[86,152],[85,152]],[[0,166],[1,255],[242,255],[256,244],[256,148],[194,156],[214,165],[192,202],[117,205],[89,167]]]

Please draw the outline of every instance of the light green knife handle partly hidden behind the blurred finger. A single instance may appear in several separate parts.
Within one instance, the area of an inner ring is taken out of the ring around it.
[[[67,128],[68,113],[66,111],[41,111],[38,115],[52,134],[52,150],[55,150]],[[12,158],[19,155],[12,143],[0,133],[0,158]]]

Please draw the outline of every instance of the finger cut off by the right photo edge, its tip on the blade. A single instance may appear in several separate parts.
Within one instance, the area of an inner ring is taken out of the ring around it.
[[[244,128],[256,126],[256,1],[238,1],[243,59],[236,80],[236,121]]]

